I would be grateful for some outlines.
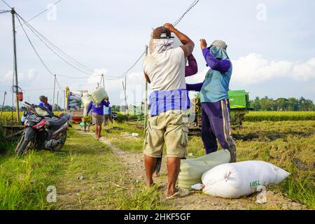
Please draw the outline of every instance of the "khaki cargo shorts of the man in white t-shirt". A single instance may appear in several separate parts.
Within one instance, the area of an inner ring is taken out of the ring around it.
[[[168,111],[148,119],[144,139],[144,155],[160,158],[163,146],[167,146],[167,157],[186,158],[188,127],[183,123],[181,111]]]

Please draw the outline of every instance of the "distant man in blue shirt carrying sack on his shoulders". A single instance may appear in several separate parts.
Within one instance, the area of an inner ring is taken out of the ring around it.
[[[102,132],[102,124],[104,121],[104,106],[109,106],[108,101],[102,101],[100,104],[94,104],[94,102],[90,102],[87,107],[87,114],[90,113],[92,109],[92,120],[95,125],[95,137],[97,140],[101,137]]]

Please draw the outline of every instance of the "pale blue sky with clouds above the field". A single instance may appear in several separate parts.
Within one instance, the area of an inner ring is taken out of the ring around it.
[[[27,20],[55,1],[7,2]],[[118,76],[141,55],[152,28],[174,22],[191,2],[62,0],[55,11],[43,13],[30,24],[79,62],[105,76]],[[315,1],[312,0],[200,0],[177,26],[196,43],[194,55],[200,73],[188,78],[187,82],[202,81],[207,71],[199,39],[206,38],[208,42],[223,39],[228,43],[228,53],[234,65],[230,83],[232,90],[244,89],[250,92],[251,98],[303,96],[315,100],[314,8]],[[7,9],[1,1],[0,9]],[[3,91],[10,91],[12,85],[10,13],[0,14],[0,26],[2,101]],[[26,30],[53,73],[87,76],[62,62]],[[38,96],[46,94],[52,101],[53,77],[39,62],[21,28],[17,29],[17,47],[19,85],[25,90],[25,99],[38,102]],[[93,90],[96,86],[93,83],[100,78],[57,76],[57,79],[62,87],[68,85],[73,90]],[[105,85],[112,104],[122,104],[122,80],[106,80]],[[129,103],[144,99],[141,63],[128,75],[127,94]],[[6,104],[10,104],[10,98],[11,94],[8,94]]]

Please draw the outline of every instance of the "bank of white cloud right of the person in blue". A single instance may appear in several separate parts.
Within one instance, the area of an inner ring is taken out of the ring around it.
[[[307,62],[269,62],[255,53],[232,60],[232,82],[237,85],[251,85],[274,78],[290,78],[307,81],[315,78],[315,58]]]

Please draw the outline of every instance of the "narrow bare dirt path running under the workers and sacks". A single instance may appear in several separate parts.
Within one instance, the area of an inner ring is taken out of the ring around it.
[[[83,132],[82,132],[83,133]],[[87,133],[94,136],[92,133]],[[144,158],[142,153],[131,153],[122,151],[120,148],[113,146],[109,139],[102,137],[102,143],[109,146],[114,154],[127,166],[127,174],[131,179],[138,181],[145,181],[144,174]],[[155,183],[159,183],[164,190],[167,186],[167,169],[166,158],[162,160],[162,169],[160,176],[155,179]],[[200,191],[192,191],[188,197],[165,201],[172,209],[210,209],[210,210],[224,210],[224,209],[307,209],[302,204],[293,202],[292,200],[283,197],[279,193],[274,193],[271,190],[267,191],[267,203],[257,204],[255,201],[257,195],[251,197],[241,198],[237,200],[227,200],[219,197],[212,197],[204,195]],[[162,199],[164,200],[164,199]]]

